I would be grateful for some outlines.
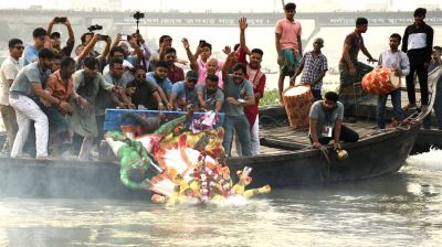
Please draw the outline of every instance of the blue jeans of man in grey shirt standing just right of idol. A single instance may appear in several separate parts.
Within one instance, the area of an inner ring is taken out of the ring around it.
[[[224,138],[222,146],[228,157],[231,155],[233,135],[236,131],[241,143],[242,155],[251,157],[251,138],[250,138],[250,125],[244,115],[241,116],[225,116],[224,117]]]

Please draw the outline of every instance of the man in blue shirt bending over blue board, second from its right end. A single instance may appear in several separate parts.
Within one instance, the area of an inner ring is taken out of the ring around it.
[[[186,80],[173,84],[169,98],[169,109],[185,110],[187,106],[192,106],[197,103],[197,89],[194,85],[198,82],[198,73],[189,71],[186,74]]]

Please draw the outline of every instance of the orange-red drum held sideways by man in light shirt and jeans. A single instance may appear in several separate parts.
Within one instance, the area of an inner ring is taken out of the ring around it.
[[[375,68],[362,78],[362,88],[368,94],[386,95],[400,87],[400,76],[391,68]]]

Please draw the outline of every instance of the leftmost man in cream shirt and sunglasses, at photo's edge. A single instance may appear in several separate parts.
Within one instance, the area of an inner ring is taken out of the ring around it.
[[[23,42],[19,39],[9,41],[9,56],[3,61],[0,67],[0,112],[7,129],[9,151],[12,149],[15,139],[17,126],[15,110],[9,105],[9,88],[19,74],[21,66],[19,58],[23,55]]]

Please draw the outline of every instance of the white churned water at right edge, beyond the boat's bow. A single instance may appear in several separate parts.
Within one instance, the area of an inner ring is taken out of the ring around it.
[[[442,171],[441,157],[442,150],[431,147],[429,152],[411,155],[406,162],[412,167]]]

